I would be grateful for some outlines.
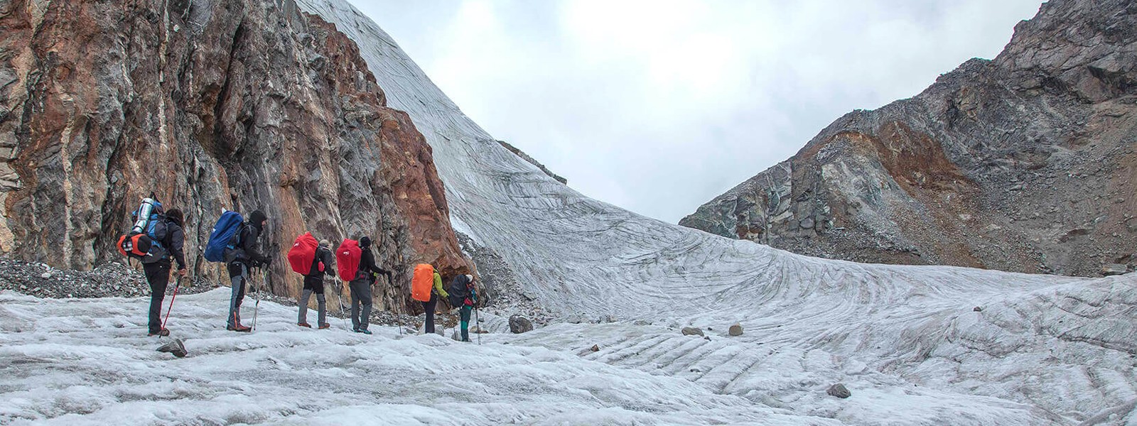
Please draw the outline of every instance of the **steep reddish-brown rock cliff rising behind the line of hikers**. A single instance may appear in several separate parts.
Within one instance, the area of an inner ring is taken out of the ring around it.
[[[296,235],[368,234],[380,309],[410,269],[468,273],[431,148],[388,108],[355,42],[285,1],[0,1],[0,253],[89,269],[118,254],[156,193],[199,248],[223,208],[263,209],[283,260]],[[274,293],[296,274],[273,264]],[[401,284],[400,284],[401,283]]]

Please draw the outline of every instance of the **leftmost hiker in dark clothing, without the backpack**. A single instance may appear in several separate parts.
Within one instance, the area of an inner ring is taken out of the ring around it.
[[[184,216],[182,210],[169,209],[165,218],[166,235],[158,243],[165,248],[163,256],[155,262],[143,262],[142,270],[146,273],[146,281],[150,284],[150,319],[149,335],[168,336],[169,331],[161,326],[161,301],[166,298],[166,285],[169,284],[169,268],[173,260],[177,260],[177,275],[185,276],[185,253],[182,247],[185,243]],[[172,260],[173,259],[173,260]]]

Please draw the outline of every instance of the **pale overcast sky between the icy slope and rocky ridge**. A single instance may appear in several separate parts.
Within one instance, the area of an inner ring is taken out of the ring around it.
[[[675,223],[853,109],[995,57],[1039,0],[352,0],[466,115]]]

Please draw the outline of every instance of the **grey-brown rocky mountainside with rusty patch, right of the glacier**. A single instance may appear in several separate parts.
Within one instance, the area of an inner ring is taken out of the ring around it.
[[[1137,3],[1055,0],[994,60],[853,111],[680,224],[856,261],[1095,275],[1137,245]]]

